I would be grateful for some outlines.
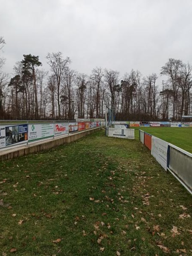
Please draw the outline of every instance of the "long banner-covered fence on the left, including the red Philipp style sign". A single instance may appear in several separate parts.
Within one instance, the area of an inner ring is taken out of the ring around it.
[[[0,151],[105,125],[100,121],[17,121],[0,124]]]

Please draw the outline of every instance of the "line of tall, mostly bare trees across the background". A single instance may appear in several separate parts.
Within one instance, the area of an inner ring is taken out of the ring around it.
[[[170,58],[161,68],[167,80],[159,90],[156,73],[131,70],[120,79],[118,71],[96,67],[86,75],[71,69],[61,52],[46,58],[49,71],[39,56],[23,55],[12,77],[0,58],[0,119],[104,118],[105,105],[118,120],[180,120],[192,113],[192,67],[180,60]]]

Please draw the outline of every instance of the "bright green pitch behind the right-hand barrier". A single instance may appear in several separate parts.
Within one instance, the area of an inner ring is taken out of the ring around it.
[[[192,128],[140,127],[141,130],[192,153]]]

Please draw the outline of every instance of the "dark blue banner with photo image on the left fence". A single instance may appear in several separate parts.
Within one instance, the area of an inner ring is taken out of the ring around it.
[[[28,132],[27,125],[6,126],[5,127],[6,146],[12,145],[15,143],[27,142],[28,140],[27,132]]]

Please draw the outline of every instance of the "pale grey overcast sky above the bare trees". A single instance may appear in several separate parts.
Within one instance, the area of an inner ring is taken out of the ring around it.
[[[168,58],[192,64],[192,0],[0,0],[0,36],[8,73],[29,53],[48,70],[47,52],[61,51],[81,73],[159,76]]]

